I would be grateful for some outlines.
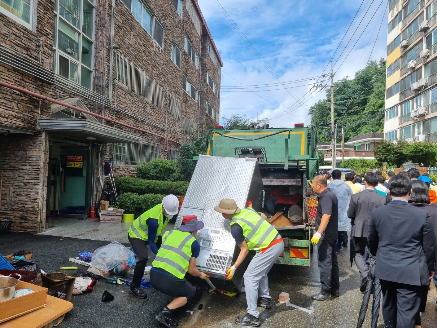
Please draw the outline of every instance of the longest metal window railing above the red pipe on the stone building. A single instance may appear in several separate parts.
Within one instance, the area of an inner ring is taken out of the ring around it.
[[[164,88],[119,51],[115,52],[115,80],[157,108],[163,108]]]

